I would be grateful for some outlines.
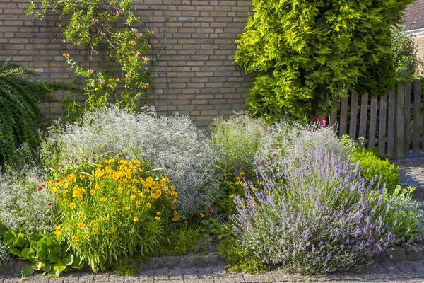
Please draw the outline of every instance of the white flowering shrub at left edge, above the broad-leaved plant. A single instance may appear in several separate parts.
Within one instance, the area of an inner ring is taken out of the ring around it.
[[[24,233],[52,231],[57,218],[54,195],[39,167],[0,173],[0,223]]]

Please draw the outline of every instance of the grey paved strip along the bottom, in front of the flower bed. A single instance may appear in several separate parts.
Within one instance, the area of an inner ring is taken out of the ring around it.
[[[49,282],[154,282],[154,283],[249,283],[249,282],[424,282],[424,260],[385,261],[365,267],[358,272],[334,272],[331,275],[302,277],[285,275],[281,270],[264,272],[261,275],[248,275],[239,272],[225,272],[223,266],[205,268],[163,268],[145,270],[134,276],[119,276],[112,272],[92,274],[72,272],[59,278],[35,275],[21,279],[18,275],[0,275],[0,283]]]

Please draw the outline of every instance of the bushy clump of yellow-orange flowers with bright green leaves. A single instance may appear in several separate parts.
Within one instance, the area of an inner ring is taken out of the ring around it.
[[[55,233],[93,271],[136,251],[153,253],[164,225],[179,220],[169,178],[151,175],[138,160],[76,161],[62,172],[48,183],[63,214]]]

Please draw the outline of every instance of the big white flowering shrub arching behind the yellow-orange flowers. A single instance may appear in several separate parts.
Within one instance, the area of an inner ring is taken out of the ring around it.
[[[49,165],[93,152],[133,160],[134,151],[170,178],[182,217],[210,204],[219,191],[213,151],[204,134],[189,117],[156,117],[152,108],[136,113],[111,106],[88,112],[74,124],[53,126],[42,141],[41,156]]]

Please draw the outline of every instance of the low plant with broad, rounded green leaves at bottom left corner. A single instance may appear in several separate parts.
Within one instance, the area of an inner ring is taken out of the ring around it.
[[[60,229],[59,226],[57,228]],[[68,249],[68,244],[58,240],[55,235],[57,231],[50,234],[25,235],[8,230],[4,234],[4,240],[11,252],[18,258],[29,260],[29,264],[22,267],[23,276],[30,276],[35,270],[42,270],[48,273],[49,277],[59,277],[61,272],[81,269],[84,266],[81,258]]]

